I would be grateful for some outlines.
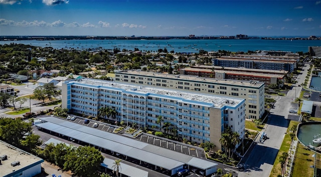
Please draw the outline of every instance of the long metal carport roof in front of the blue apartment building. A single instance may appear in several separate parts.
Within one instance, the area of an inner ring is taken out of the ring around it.
[[[205,159],[87,127],[54,116],[42,117],[40,119],[43,120],[43,123],[37,124],[37,126],[41,128],[153,164],[155,168],[159,166],[168,169],[171,171],[171,175],[182,169],[184,164],[204,170],[211,169],[210,171],[216,171],[217,163]]]

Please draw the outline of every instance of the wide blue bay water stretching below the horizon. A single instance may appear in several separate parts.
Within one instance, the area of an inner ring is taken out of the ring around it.
[[[34,46],[52,46],[54,48],[76,49],[113,49],[119,47],[133,50],[135,47],[142,51],[155,51],[165,47],[170,52],[198,52],[206,51],[248,51],[248,50],[282,50],[282,51],[308,51],[308,46],[321,46],[321,40],[276,40],[276,39],[168,39],[168,40],[18,40],[0,41],[0,44],[11,42],[31,44]]]

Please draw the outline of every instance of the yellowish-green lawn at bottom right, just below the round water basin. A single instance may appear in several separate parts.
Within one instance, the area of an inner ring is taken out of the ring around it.
[[[313,168],[310,168],[314,164],[312,154],[314,154],[312,150],[299,143],[294,159],[292,177],[313,176]]]

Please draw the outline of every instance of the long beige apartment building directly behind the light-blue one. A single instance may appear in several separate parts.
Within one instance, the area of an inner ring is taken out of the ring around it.
[[[216,79],[193,75],[163,74],[146,71],[115,71],[115,81],[200,94],[215,94],[245,99],[246,118],[261,118],[264,113],[264,82]]]

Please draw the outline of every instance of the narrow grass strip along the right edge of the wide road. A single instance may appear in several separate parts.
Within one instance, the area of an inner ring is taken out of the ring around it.
[[[281,163],[279,162],[279,157],[282,155],[283,152],[288,152],[289,151],[290,144],[291,144],[291,137],[289,135],[290,128],[293,125],[297,126],[298,123],[299,123],[298,121],[293,121],[293,120],[290,121],[289,126],[288,126],[288,128],[286,130],[287,133],[284,136],[284,139],[283,139],[282,145],[280,147],[280,150],[277,153],[277,156],[275,158],[271,173],[269,175],[270,177],[274,177],[274,176],[277,176],[278,174],[281,174]],[[302,176],[305,176],[305,175],[302,175]]]

